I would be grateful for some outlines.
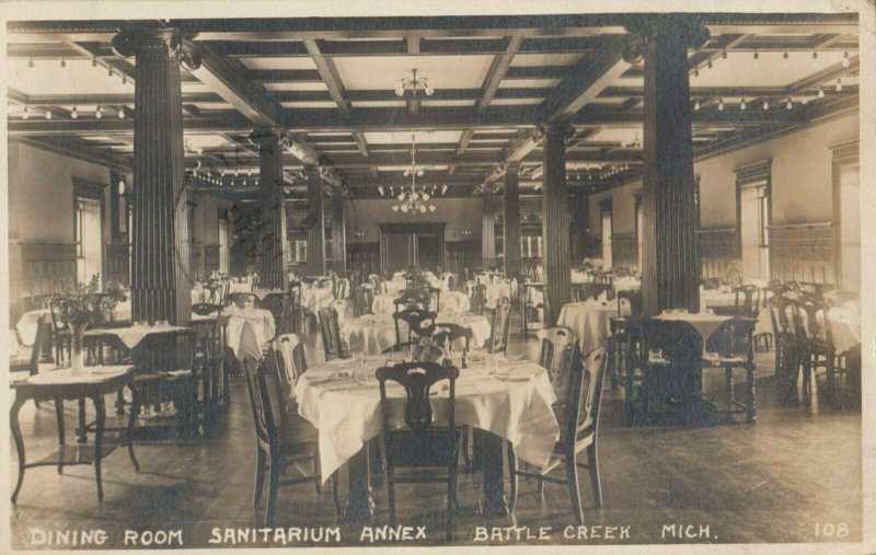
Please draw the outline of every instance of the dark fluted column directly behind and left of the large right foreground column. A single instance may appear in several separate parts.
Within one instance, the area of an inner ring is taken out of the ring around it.
[[[548,281],[544,320],[556,322],[563,305],[572,301],[572,266],[568,252],[568,196],[566,194],[566,146],[568,128],[550,125],[544,135],[544,184],[542,186],[542,264]]]

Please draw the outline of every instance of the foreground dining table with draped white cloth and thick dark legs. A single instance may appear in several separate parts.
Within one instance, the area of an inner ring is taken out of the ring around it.
[[[368,444],[381,430],[377,369],[404,360],[403,354],[365,356],[356,361],[335,359],[311,367],[295,385],[299,414],[318,430],[322,478],[347,465],[346,519],[367,520],[374,500],[368,476]],[[405,392],[389,382],[391,425],[404,421]],[[483,484],[481,507],[488,516],[507,514],[503,459],[505,442],[535,466],[548,464],[560,426],[552,409],[556,401],[548,371],[523,359],[471,360],[456,382],[456,423],[477,435]],[[430,392],[436,420],[447,414],[448,395],[441,382]]]

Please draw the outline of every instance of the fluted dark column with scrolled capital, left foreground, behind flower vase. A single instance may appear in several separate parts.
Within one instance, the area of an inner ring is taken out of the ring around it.
[[[187,324],[192,317],[185,152],[180,63],[199,66],[176,28],[126,27],[117,56],[136,56],[134,99],[134,248],[131,315]]]

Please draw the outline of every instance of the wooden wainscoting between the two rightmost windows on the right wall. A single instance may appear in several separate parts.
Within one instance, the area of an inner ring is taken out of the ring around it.
[[[770,227],[770,269],[773,279],[835,284],[831,222]]]

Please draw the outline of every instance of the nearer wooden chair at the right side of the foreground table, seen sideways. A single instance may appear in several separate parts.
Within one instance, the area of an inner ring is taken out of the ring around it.
[[[572,514],[577,524],[584,523],[578,469],[583,467],[590,475],[590,488],[593,505],[602,507],[602,485],[599,477],[599,460],[597,453],[597,435],[599,431],[599,413],[602,404],[602,385],[606,378],[607,357],[604,347],[590,351],[581,357],[578,349],[573,349],[573,362],[569,372],[565,398],[565,418],[560,423],[560,439],[556,441],[551,462],[541,470],[522,470],[518,467],[514,447],[508,444],[508,474],[511,478],[511,496],[508,510],[514,513],[517,505],[518,478],[533,478],[542,483],[564,484],[568,488]],[[578,461],[579,453],[586,453],[586,462]],[[551,475],[563,466],[566,477]]]

